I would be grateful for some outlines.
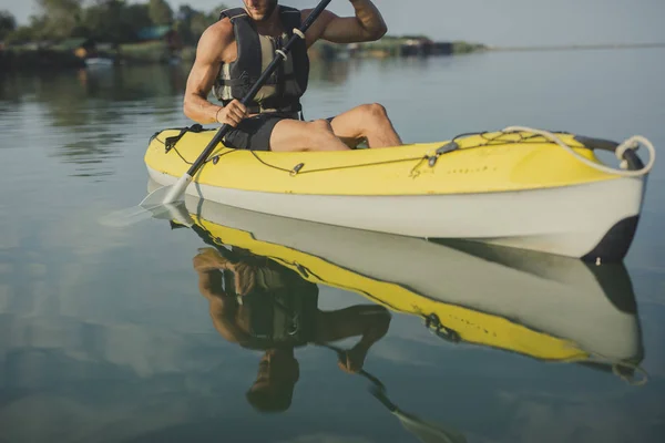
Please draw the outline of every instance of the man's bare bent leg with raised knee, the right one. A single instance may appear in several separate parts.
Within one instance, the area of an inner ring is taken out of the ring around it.
[[[395,131],[386,109],[378,103],[364,104],[337,115],[330,122],[339,138],[355,140],[356,144],[367,138],[369,147],[391,147],[402,144]]]

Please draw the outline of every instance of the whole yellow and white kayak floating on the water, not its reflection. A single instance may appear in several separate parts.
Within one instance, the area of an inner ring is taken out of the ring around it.
[[[155,133],[150,177],[173,185],[216,131]],[[637,227],[651,162],[640,144],[530,128],[347,152],[273,153],[218,145],[186,195],[254,212],[429,239],[470,239],[591,261],[620,261]],[[604,165],[610,151],[623,168]]]

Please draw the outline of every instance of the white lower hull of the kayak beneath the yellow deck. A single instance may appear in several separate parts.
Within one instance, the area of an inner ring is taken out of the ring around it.
[[[163,186],[177,181],[149,172]],[[625,256],[644,192],[642,177],[464,195],[326,196],[198,183],[186,189],[187,195],[280,217],[409,237],[470,239],[591,261]],[[605,241],[608,236],[612,241]]]

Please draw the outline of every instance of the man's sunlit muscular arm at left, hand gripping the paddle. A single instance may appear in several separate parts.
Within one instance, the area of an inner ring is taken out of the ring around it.
[[[183,101],[184,114],[197,123],[235,126],[246,115],[245,106],[238,101],[223,107],[207,100],[233,41],[233,24],[228,19],[216,22],[201,35]]]

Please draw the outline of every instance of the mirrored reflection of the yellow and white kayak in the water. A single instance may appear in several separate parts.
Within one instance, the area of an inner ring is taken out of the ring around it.
[[[598,267],[470,241],[368,233],[191,196],[180,214],[161,218],[188,226],[205,243],[268,257],[310,282],[416,316],[448,342],[613,369],[627,378],[644,357],[623,264]]]

